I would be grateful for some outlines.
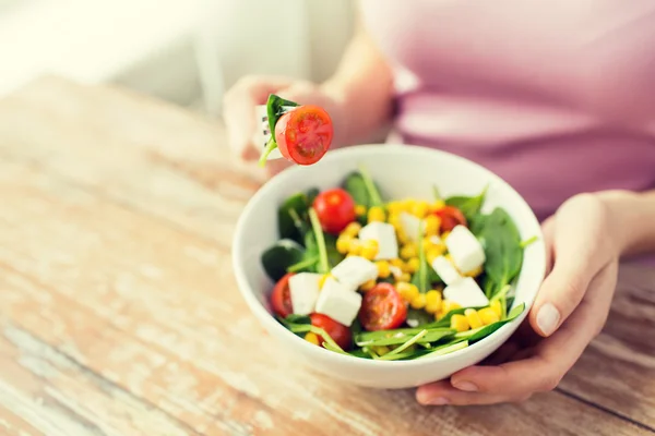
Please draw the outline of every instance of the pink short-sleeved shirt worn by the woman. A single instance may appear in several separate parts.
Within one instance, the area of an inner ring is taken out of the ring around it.
[[[403,142],[476,161],[540,218],[655,189],[653,0],[362,0]]]

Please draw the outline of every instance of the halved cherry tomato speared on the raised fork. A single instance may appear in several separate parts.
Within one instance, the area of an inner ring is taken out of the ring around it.
[[[321,160],[332,144],[332,119],[318,106],[299,106],[277,120],[275,142],[286,159],[298,165]]]

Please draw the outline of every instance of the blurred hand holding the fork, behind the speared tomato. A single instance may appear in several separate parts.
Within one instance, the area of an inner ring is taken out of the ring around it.
[[[247,76],[241,78],[225,95],[224,120],[230,148],[245,160],[259,159],[263,144],[255,144],[263,129],[257,120],[255,107],[265,105],[270,94],[279,95],[300,105],[317,105],[327,111],[335,125],[335,135],[341,131],[342,107],[337,99],[321,86],[311,82],[286,77]],[[334,143],[338,137],[333,140]],[[286,159],[271,160],[266,170],[273,175],[293,164]]]

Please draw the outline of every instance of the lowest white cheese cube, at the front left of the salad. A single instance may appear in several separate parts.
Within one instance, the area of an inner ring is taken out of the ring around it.
[[[350,326],[359,313],[361,294],[353,292],[332,277],[325,280],[317,301],[317,313],[327,315],[344,326]]]

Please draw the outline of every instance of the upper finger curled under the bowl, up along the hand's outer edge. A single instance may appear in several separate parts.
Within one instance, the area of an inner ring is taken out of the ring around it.
[[[605,324],[616,286],[616,264],[604,268],[591,284],[590,296],[555,335],[544,340],[535,355],[498,366],[472,366],[453,374],[453,387],[519,398],[555,389],[590,341]]]

